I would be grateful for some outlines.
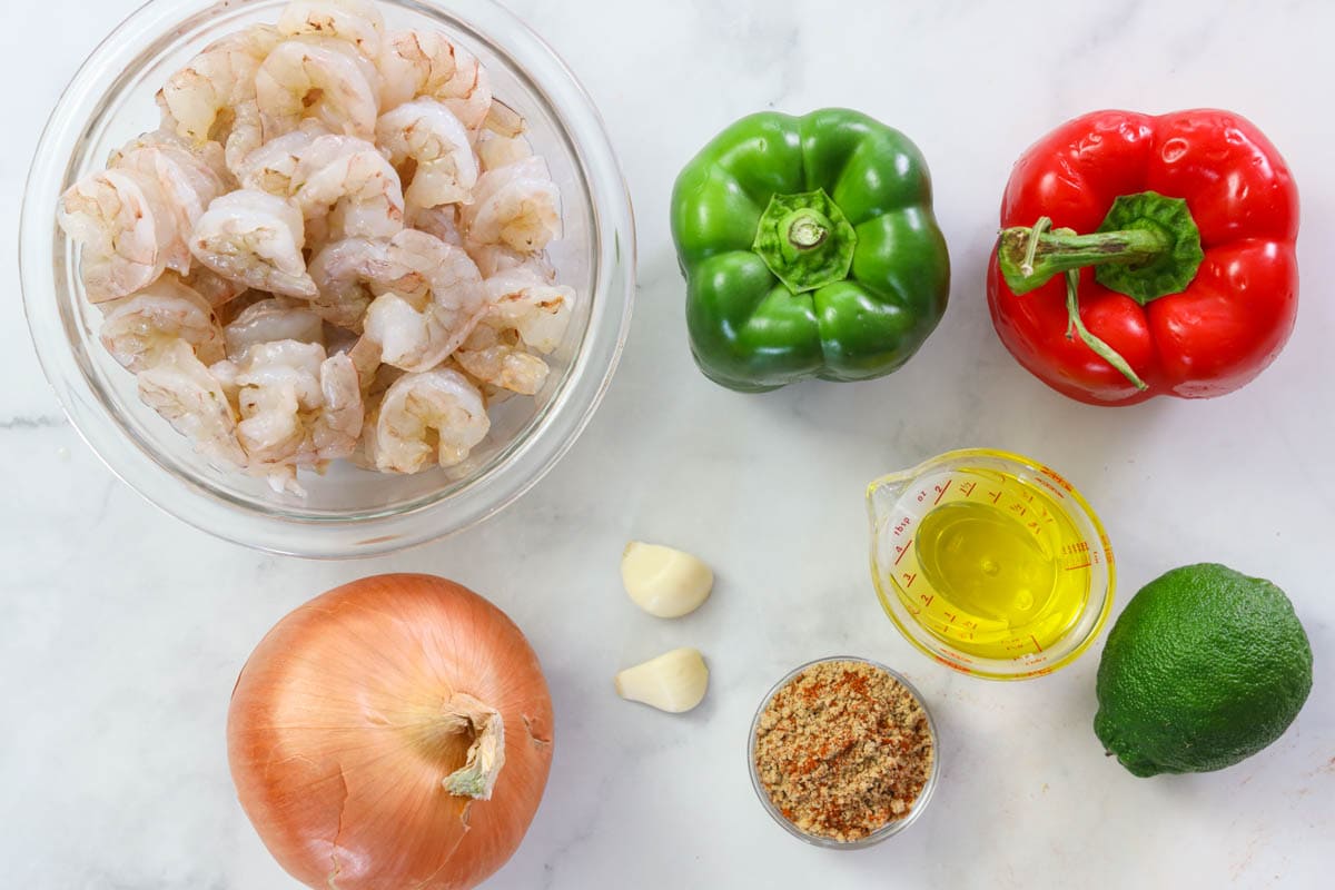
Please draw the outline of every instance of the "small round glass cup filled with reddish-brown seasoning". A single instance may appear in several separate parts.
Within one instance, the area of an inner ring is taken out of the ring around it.
[[[922,705],[889,673],[828,660],[774,693],[752,757],[793,826],[852,842],[909,815],[932,774],[934,742]]]

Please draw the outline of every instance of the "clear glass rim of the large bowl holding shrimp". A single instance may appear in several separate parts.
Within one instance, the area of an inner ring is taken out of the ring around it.
[[[451,35],[462,31],[502,57],[549,109],[589,196],[593,287],[586,298],[591,302],[587,327],[550,399],[467,482],[447,483],[406,506],[354,515],[292,514],[280,504],[256,508],[167,466],[164,455],[131,435],[97,386],[84,351],[75,346],[56,296],[64,275],[56,256],[65,238],[55,224],[56,199],[71,181],[77,141],[120,89],[108,76],[108,60],[127,55],[140,60],[186,23],[224,11],[243,13],[254,0],[150,0],[125,17],[80,64],[57,99],[24,187],[19,230],[24,315],[43,374],[75,431],[115,476],[155,507],[215,536],[276,554],[371,556],[445,538],[495,515],[574,446],[611,383],[630,331],[635,275],[630,195],[593,99],[569,65],[494,0],[380,3],[431,16]],[[502,33],[503,40],[497,36]]]

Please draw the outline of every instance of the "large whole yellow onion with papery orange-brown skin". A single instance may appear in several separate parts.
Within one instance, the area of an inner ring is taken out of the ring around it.
[[[457,890],[523,839],[551,765],[538,658],[499,608],[431,575],[378,575],[283,618],[232,693],[242,807],[324,890]]]

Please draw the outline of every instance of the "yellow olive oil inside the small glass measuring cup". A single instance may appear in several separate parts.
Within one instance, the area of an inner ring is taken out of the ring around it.
[[[1089,599],[1091,555],[1067,511],[1011,474],[956,472],[937,488],[905,574],[921,580],[896,584],[918,622],[980,658],[1037,654],[1061,639]]]

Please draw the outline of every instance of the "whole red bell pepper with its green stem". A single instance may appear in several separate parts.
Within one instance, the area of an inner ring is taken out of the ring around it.
[[[1231,112],[1063,124],[1016,163],[1001,228],[992,320],[1024,367],[1072,399],[1232,392],[1294,328],[1298,189]]]

